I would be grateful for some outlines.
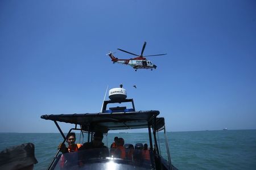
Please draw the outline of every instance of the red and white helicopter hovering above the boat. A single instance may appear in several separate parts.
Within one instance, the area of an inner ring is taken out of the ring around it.
[[[133,67],[135,69],[135,71],[137,71],[137,69],[151,69],[151,70],[156,69],[157,66],[154,65],[151,61],[147,60],[146,57],[163,56],[166,54],[155,54],[155,55],[150,55],[150,56],[143,56],[143,52],[144,52],[146,44],[147,44],[147,42],[144,42],[142,50],[141,50],[141,55],[130,53],[130,52],[127,52],[126,50],[122,50],[122,49],[118,48],[118,50],[121,50],[122,52],[131,54],[133,56],[137,56],[135,58],[118,59],[117,57],[114,57],[112,52],[110,52],[107,55],[112,59],[113,63],[117,62],[117,63],[122,63],[125,65],[130,65],[131,67]]]

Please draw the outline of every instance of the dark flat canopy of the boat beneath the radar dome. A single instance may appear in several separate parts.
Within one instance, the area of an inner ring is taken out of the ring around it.
[[[108,133],[109,130],[154,128],[162,130],[164,118],[157,118],[159,111],[138,111],[119,113],[49,114],[42,115],[45,120],[81,125],[82,130]]]

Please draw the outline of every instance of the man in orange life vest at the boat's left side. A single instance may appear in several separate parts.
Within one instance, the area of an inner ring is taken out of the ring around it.
[[[58,146],[58,149],[60,149],[60,151],[63,154],[67,152],[76,152],[82,146],[82,144],[80,143],[75,144],[75,142],[76,142],[76,134],[71,132],[67,136],[68,147],[66,147],[64,143],[60,143],[60,145]]]

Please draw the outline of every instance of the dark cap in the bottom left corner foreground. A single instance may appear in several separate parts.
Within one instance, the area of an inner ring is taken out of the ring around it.
[[[36,163],[33,143],[23,143],[0,152],[0,169],[20,169]]]

